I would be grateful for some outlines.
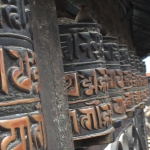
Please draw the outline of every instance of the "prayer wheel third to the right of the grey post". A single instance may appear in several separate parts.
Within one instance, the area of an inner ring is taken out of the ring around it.
[[[120,65],[123,73],[123,82],[124,82],[123,90],[126,104],[126,114],[128,117],[132,117],[135,107],[133,99],[131,65],[127,45],[119,45],[119,52],[120,52]]]

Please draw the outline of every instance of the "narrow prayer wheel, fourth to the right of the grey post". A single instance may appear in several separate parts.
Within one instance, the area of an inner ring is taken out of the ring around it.
[[[135,108],[139,108],[141,105],[141,96],[139,90],[139,76],[137,75],[137,60],[135,59],[135,53],[133,51],[129,51],[129,59],[131,64],[131,72],[132,72],[132,86],[133,86],[133,98],[134,98],[134,106]],[[139,74],[139,72],[138,72]]]

